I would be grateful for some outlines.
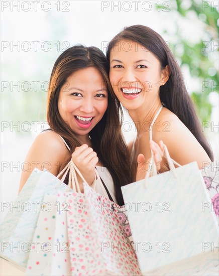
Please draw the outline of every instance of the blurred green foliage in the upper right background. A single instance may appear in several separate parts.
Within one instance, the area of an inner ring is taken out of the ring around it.
[[[172,4],[174,1],[171,1]],[[183,2],[187,2],[186,5]],[[187,20],[191,25],[199,20],[201,30],[200,40],[196,43],[185,40],[181,34],[182,21],[174,22],[177,27],[177,43],[170,47],[180,66],[188,66],[192,80],[198,80],[200,90],[189,91],[202,121],[209,121],[212,104],[209,95],[218,92],[218,12],[213,2],[175,0],[176,11],[180,19]],[[186,6],[186,8],[184,8]],[[192,19],[191,19],[191,12]],[[177,47],[183,51],[177,51]],[[180,53],[179,53],[180,52]]]

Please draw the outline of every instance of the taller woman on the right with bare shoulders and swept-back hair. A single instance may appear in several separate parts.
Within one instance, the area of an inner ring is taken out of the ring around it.
[[[135,164],[149,160],[151,150],[155,162],[161,162],[160,172],[168,170],[162,159],[163,143],[181,165],[197,161],[201,169],[213,161],[180,68],[158,33],[142,25],[125,28],[108,44],[106,57],[114,97],[137,128],[137,138],[129,145],[133,181]]]

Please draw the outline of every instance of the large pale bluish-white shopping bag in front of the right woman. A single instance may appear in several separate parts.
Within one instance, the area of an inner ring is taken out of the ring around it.
[[[190,275],[216,267],[218,226],[204,208],[211,200],[197,163],[175,168],[166,146],[165,153],[169,172],[122,187],[141,272]],[[153,155],[151,162],[155,168]]]

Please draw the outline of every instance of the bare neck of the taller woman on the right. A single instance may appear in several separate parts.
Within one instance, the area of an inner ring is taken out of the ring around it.
[[[159,98],[153,104],[144,104],[135,110],[129,110],[129,115],[135,123],[138,135],[142,131],[149,131],[150,125],[161,105],[162,103]]]

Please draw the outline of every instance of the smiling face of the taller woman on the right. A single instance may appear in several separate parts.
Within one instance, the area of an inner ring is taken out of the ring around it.
[[[128,110],[155,102],[169,73],[142,45],[122,40],[110,53],[110,81],[114,93]]]

